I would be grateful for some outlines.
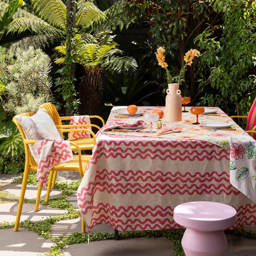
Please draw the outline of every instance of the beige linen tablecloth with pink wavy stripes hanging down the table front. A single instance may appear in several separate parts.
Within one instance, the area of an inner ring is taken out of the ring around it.
[[[108,122],[115,114],[114,108]],[[233,206],[237,221],[231,228],[256,223],[256,204],[230,184],[229,150],[198,138],[103,132],[77,198],[89,231],[100,223],[123,231],[181,228],[173,209],[191,201]]]

